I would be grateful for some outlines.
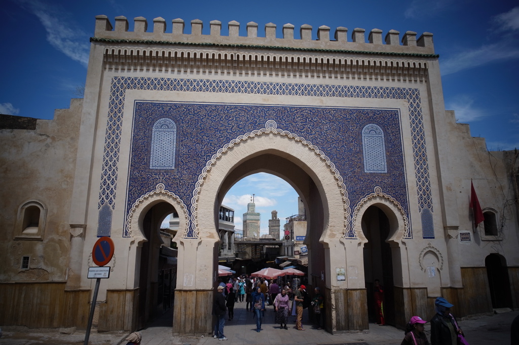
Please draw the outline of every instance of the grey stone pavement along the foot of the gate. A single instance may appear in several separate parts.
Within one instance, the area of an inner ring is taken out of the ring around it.
[[[471,317],[459,322],[471,345],[506,345],[510,344],[510,324],[519,311],[510,311],[489,316]],[[304,331],[295,329],[295,316],[289,324],[289,329],[279,329],[274,324],[274,311],[268,307],[265,311],[263,330],[255,331],[256,322],[253,314],[245,310],[245,303],[236,303],[234,320],[228,321],[224,334],[227,341],[221,342],[212,337],[173,337],[171,334],[171,313],[163,315],[159,320],[141,330],[141,345],[306,345],[306,344],[362,344],[362,345],[400,345],[404,332],[391,326],[370,324],[370,329],[359,333],[341,333],[331,335],[324,330],[315,329],[308,323],[308,315],[303,317]],[[85,331],[75,331],[73,334],[59,334],[52,330],[29,330],[24,327],[2,327],[4,335],[0,339],[1,345],[77,345],[83,344]],[[430,326],[426,324],[427,337]],[[126,333],[108,332],[97,333],[92,331],[89,338],[90,345],[125,345]],[[515,345],[515,344],[514,344]]]

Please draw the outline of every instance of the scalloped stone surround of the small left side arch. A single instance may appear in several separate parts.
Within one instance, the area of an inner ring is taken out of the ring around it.
[[[146,193],[135,201],[128,213],[126,220],[128,234],[135,238],[139,245],[148,241],[142,232],[144,215],[150,208],[161,202],[166,202],[175,208],[179,215],[179,233],[184,233],[189,227],[189,215],[184,202],[180,197],[166,190],[163,183],[159,183],[155,190]]]

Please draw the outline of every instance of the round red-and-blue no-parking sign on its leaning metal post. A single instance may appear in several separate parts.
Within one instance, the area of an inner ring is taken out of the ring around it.
[[[83,345],[88,345],[88,338],[90,338],[90,328],[92,328],[92,320],[94,318],[95,303],[97,303],[97,294],[99,292],[99,284],[101,279],[110,278],[110,267],[104,266],[114,255],[114,242],[110,237],[101,237],[95,242],[92,249],[92,260],[100,267],[89,267],[88,278],[97,278],[95,280],[94,295],[92,297],[92,306],[90,307],[90,314],[88,315],[87,332],[85,334],[85,342]]]

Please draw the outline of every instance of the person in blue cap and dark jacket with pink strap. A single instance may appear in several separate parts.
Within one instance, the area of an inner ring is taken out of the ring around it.
[[[436,314],[431,319],[431,345],[457,345],[458,334],[463,335],[454,316],[450,314],[452,307],[454,304],[443,297],[434,301]]]

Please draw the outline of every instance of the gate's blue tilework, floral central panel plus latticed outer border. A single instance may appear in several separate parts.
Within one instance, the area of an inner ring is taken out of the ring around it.
[[[420,94],[416,88],[119,76],[112,79],[100,185],[100,211],[104,205],[112,210],[115,207],[123,104],[127,89],[407,100],[419,209],[428,208],[432,211]],[[210,157],[224,144],[245,132],[263,128],[266,121],[272,119],[280,128],[311,141],[330,157],[344,178],[351,204],[356,204],[378,185],[394,196],[408,213],[399,116],[399,111],[392,109],[136,102],[125,208],[130,209],[142,194],[162,182],[168,190],[179,195],[188,204],[187,209],[190,209],[194,184]],[[176,126],[174,169],[149,168],[153,124],[160,119],[169,119]],[[369,124],[378,126],[384,132],[386,173],[364,171],[362,129]],[[194,236],[194,233],[190,229],[188,236]],[[124,236],[128,236],[126,230]]]

